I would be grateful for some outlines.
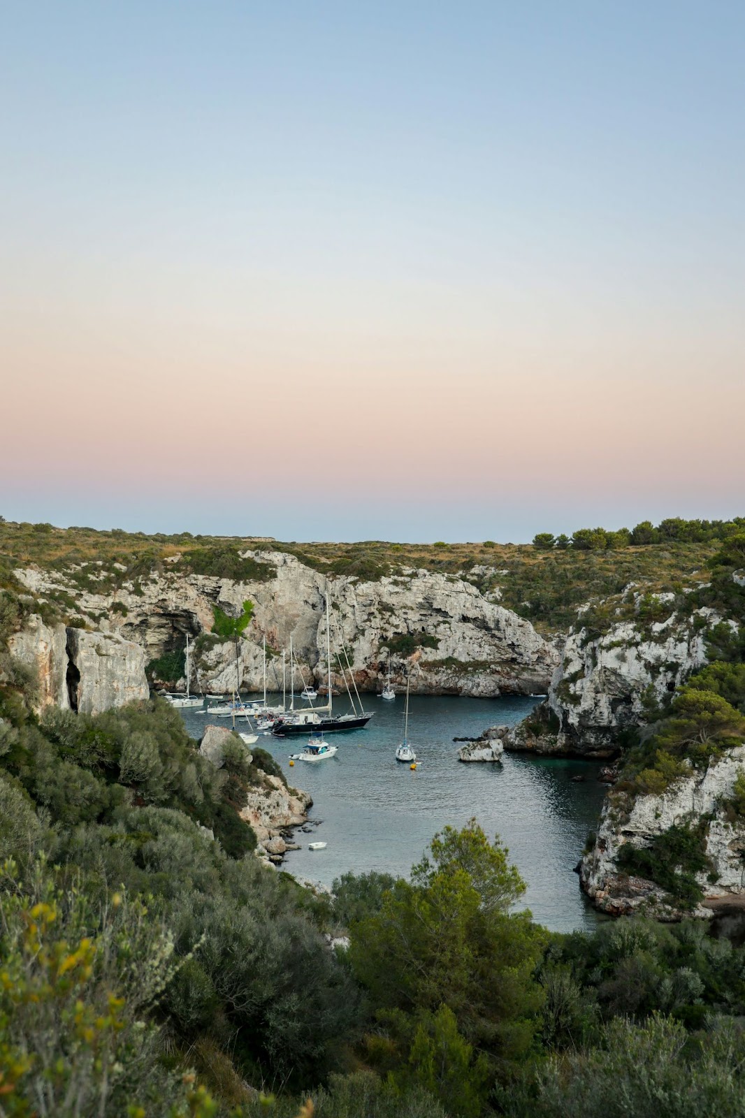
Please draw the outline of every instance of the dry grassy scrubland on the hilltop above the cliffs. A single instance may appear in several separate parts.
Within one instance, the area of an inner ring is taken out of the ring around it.
[[[620,594],[631,581],[643,582],[650,589],[680,582],[691,585],[691,580],[695,584],[698,576],[694,572],[705,568],[717,542],[671,540],[604,551],[575,548],[547,551],[530,543],[489,540],[432,544],[384,540],[298,543],[249,536],[209,537],[189,532],[166,536],[2,522],[0,585],[12,585],[12,569],[31,563],[64,571],[66,577],[73,569],[73,580],[81,589],[98,593],[124,580],[136,584],[152,570],[189,569],[195,574],[248,580],[271,578],[271,567],[241,558],[238,552],[248,548],[290,552],[322,574],[355,575],[365,580],[400,575],[412,567],[443,575],[464,572],[483,593],[499,591],[502,605],[548,634],[565,631],[578,605]]]

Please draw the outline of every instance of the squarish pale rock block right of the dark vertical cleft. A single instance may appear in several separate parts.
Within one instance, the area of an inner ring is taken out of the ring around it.
[[[133,641],[68,628],[67,652],[79,673],[72,703],[79,713],[100,714],[149,697],[144,650]]]

